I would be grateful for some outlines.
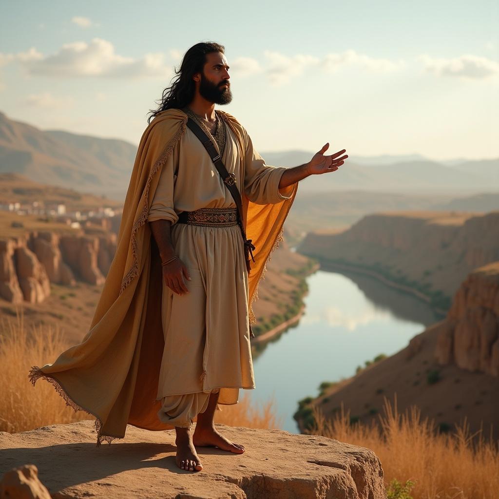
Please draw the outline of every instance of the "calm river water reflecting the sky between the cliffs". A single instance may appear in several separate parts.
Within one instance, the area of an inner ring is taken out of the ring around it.
[[[424,302],[361,274],[321,269],[307,278],[309,293],[298,325],[269,343],[253,361],[257,405],[275,400],[282,428],[299,433],[297,401],[318,394],[322,381],[355,373],[358,365],[393,354],[441,316]]]

